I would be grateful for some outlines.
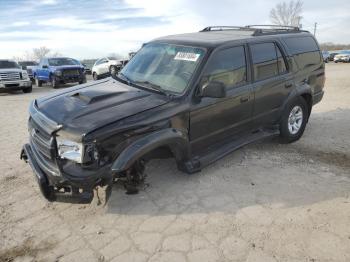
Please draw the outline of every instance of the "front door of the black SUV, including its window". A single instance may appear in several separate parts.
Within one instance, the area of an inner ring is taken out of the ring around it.
[[[210,81],[226,86],[226,97],[195,99],[190,113],[190,139],[194,153],[249,129],[253,93],[248,77],[246,46],[215,51],[209,58],[199,87]]]

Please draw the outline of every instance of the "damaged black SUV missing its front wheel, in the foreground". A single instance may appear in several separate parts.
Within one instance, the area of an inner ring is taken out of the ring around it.
[[[150,159],[174,157],[192,174],[267,137],[297,141],[323,97],[324,68],[316,39],[298,28],[161,37],[115,78],[34,100],[21,158],[50,201],[88,203],[115,180],[136,193]]]

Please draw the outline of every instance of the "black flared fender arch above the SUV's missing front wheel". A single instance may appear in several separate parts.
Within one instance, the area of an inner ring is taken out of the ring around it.
[[[166,128],[148,134],[130,144],[114,161],[112,171],[125,171],[143,155],[162,146],[170,148],[178,163],[189,159],[190,146],[187,133],[174,128]]]

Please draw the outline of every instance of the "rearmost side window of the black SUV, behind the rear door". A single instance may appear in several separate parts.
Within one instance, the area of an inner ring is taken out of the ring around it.
[[[319,48],[311,36],[286,38],[284,41],[300,69],[318,65],[321,62]]]

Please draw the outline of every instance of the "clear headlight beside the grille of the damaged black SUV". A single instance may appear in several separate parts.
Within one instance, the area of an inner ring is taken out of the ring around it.
[[[61,158],[69,159],[77,163],[82,163],[83,159],[83,145],[81,143],[73,142],[67,139],[57,137],[57,150]]]

